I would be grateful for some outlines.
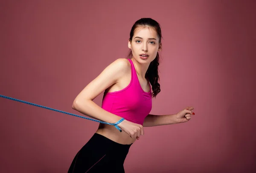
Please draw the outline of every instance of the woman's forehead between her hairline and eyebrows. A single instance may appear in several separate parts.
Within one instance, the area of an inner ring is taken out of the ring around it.
[[[142,37],[143,39],[156,38],[158,40],[156,30],[148,26],[138,27],[135,30],[133,37]]]

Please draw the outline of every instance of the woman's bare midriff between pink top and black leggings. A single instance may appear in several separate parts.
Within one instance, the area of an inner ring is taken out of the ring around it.
[[[137,139],[131,138],[127,133],[124,131],[119,132],[116,127],[113,125],[108,124],[99,124],[99,128],[96,131],[96,133],[105,136],[106,138],[109,138],[110,140],[122,144],[122,145],[131,145],[133,144]]]

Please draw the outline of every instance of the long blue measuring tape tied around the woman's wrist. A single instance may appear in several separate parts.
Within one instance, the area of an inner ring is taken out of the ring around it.
[[[14,101],[19,101],[19,102],[21,102],[21,103],[30,104],[30,105],[37,106],[37,107],[42,107],[42,108],[45,108],[45,109],[48,109],[48,110],[54,110],[54,111],[56,111],[56,112],[61,112],[61,113],[65,113],[65,114],[68,114],[68,115],[77,116],[77,117],[84,118],[84,119],[91,120],[91,121],[96,121],[96,122],[98,122],[98,123],[113,125],[113,126],[115,126],[116,129],[119,130],[120,132],[122,132],[122,130],[120,129],[120,127],[117,126],[117,124],[119,124],[119,123],[121,123],[122,121],[125,120],[124,118],[122,118],[122,119],[120,119],[119,121],[117,121],[116,123],[107,123],[107,122],[104,122],[104,121],[99,121],[99,120],[95,120],[95,119],[92,119],[92,118],[86,118],[86,117],[84,117],[84,116],[76,115],[76,114],[69,113],[69,112],[64,112],[64,111],[61,111],[61,110],[55,110],[55,109],[52,109],[52,108],[50,108],[50,107],[44,107],[44,106],[41,106],[41,105],[39,105],[39,104],[29,103],[29,102],[27,102],[27,101],[22,101],[22,100],[19,100],[19,99],[16,99],[16,98],[7,97],[7,96],[5,96],[5,95],[0,95],[0,97],[2,97],[2,98],[7,98],[7,99],[10,99],[10,100],[14,100]]]

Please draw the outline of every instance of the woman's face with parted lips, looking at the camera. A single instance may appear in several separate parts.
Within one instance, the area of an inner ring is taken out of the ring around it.
[[[135,31],[131,42],[128,41],[128,47],[136,61],[150,63],[161,49],[161,43],[159,43],[157,32],[153,28],[140,27]],[[142,56],[141,54],[147,55]]]

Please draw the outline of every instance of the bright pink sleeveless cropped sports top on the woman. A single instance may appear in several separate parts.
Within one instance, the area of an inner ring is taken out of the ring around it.
[[[152,109],[151,87],[149,92],[142,89],[134,64],[130,59],[128,61],[131,63],[130,84],[122,90],[104,93],[102,109],[143,125],[145,117]]]

